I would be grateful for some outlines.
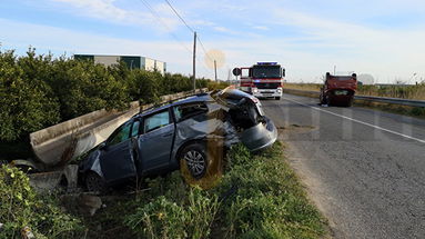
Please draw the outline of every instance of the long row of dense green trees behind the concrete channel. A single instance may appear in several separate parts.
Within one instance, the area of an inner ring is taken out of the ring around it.
[[[198,88],[223,87],[199,79]],[[182,74],[129,70],[93,61],[54,59],[51,54],[17,57],[0,50],[0,141],[24,139],[30,132],[84,113],[124,109],[130,101],[153,102],[162,94],[191,90]]]

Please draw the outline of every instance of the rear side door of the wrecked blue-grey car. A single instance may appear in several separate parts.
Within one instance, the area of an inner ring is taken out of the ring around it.
[[[165,109],[143,119],[143,135],[139,139],[143,172],[166,168],[174,138],[174,123],[170,110]]]

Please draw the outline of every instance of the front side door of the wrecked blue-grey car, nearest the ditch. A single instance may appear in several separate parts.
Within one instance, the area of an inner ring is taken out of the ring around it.
[[[100,166],[108,183],[135,177],[131,127],[134,121],[117,129],[101,149]]]

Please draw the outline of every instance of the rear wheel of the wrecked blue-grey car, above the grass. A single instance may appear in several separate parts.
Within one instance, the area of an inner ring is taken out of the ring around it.
[[[196,180],[201,179],[208,170],[209,159],[206,155],[204,143],[189,145],[180,155],[181,163],[185,163],[190,176]]]

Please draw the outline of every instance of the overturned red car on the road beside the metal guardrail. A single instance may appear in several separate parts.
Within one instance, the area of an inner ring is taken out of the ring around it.
[[[326,72],[326,79],[321,88],[321,104],[351,107],[357,89],[357,76],[332,76]]]

